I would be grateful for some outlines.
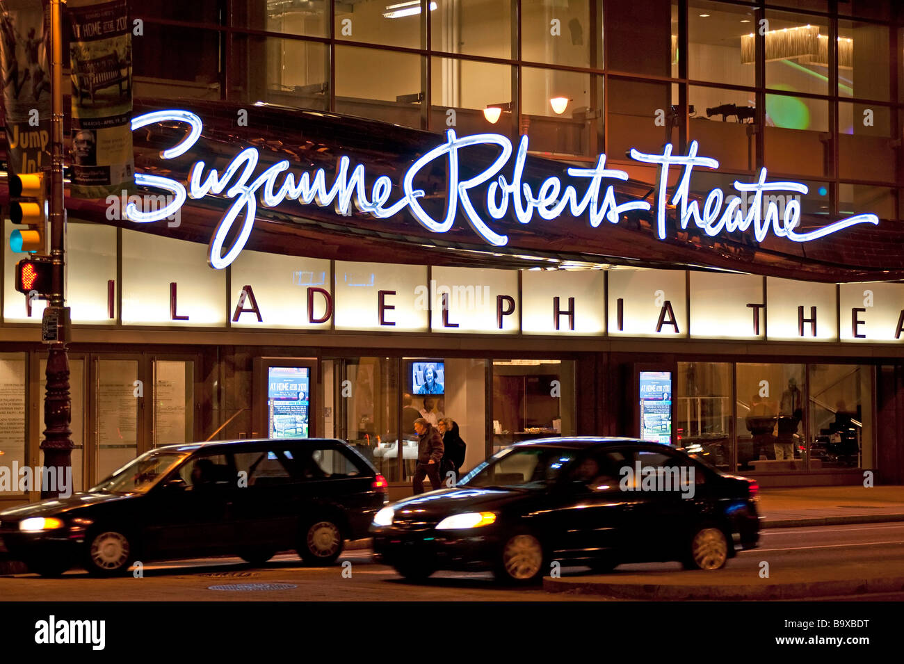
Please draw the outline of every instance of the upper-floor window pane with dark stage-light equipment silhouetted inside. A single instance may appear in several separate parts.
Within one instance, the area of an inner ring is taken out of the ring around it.
[[[691,86],[690,139],[699,154],[719,160],[720,168],[752,171],[756,164],[756,95],[753,92]]]

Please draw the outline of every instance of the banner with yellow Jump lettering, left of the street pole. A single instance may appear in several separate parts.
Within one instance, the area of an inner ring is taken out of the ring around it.
[[[51,164],[50,5],[3,0],[0,30],[9,171],[38,173]]]

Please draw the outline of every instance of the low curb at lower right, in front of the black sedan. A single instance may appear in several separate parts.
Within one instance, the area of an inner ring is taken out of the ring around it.
[[[648,579],[647,579],[648,580]],[[631,600],[789,600],[832,597],[851,594],[896,593],[904,591],[904,576],[874,579],[836,579],[832,581],[796,581],[789,584],[735,585],[659,585],[617,583],[616,581],[579,581],[543,579],[543,590],[549,593],[601,594]]]

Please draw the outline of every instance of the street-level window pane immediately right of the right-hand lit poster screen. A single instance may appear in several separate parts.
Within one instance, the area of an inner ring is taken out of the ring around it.
[[[730,362],[678,362],[679,444],[724,471],[731,465]]]

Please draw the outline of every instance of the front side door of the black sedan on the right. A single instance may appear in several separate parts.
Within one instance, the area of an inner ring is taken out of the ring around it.
[[[626,452],[599,447],[579,455],[551,494],[554,556],[579,562],[620,546],[626,505],[619,469]]]

